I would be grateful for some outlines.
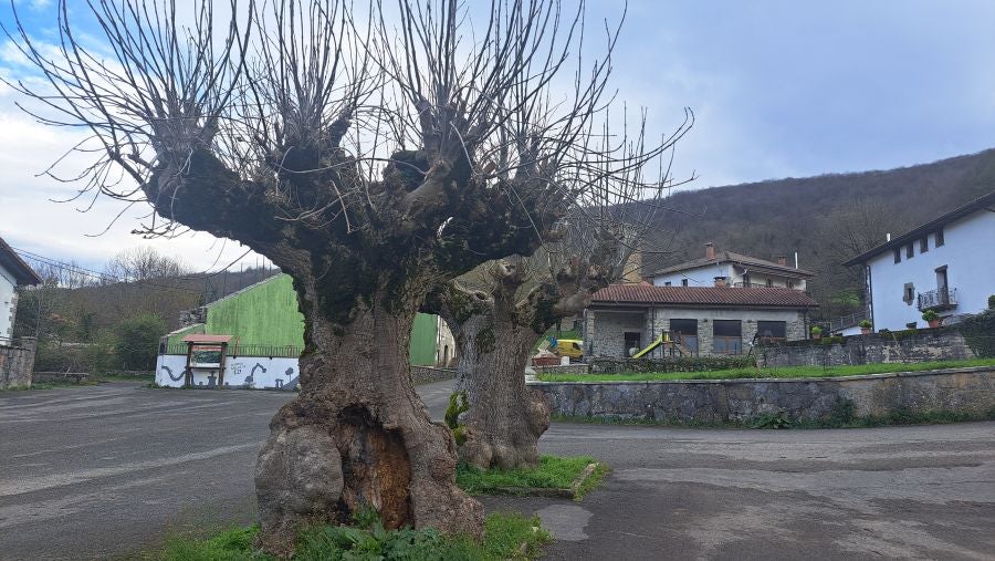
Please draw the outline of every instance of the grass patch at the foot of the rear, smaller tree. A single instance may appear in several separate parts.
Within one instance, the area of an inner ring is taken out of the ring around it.
[[[530,488],[569,489],[584,468],[596,463],[590,456],[542,456],[535,468],[478,469],[460,464],[457,466],[457,485],[470,495],[524,495]],[[578,489],[575,500],[601,484],[609,468],[597,464],[597,469]]]

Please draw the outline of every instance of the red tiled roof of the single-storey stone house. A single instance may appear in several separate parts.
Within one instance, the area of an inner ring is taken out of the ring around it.
[[[664,304],[694,308],[817,308],[808,294],[794,289],[729,287],[653,287],[611,284],[591,298],[591,307]]]

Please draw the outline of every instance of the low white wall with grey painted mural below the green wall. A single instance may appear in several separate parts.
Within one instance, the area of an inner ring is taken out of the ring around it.
[[[297,387],[300,373],[296,359],[238,356],[228,359],[223,375],[218,368],[189,368],[193,387],[227,387],[247,389],[284,389]],[[156,384],[182,387],[188,375],[187,357],[160,354],[156,359]],[[219,381],[221,381],[219,383]]]

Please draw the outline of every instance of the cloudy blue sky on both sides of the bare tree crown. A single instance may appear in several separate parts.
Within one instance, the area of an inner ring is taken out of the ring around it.
[[[30,33],[52,35],[54,0],[17,3]],[[619,3],[590,0],[590,15],[617,21]],[[0,19],[10,23],[9,9]],[[0,73],[31,73],[6,41]],[[695,112],[675,164],[678,176],[699,176],[691,188],[926,163],[995,147],[995,2],[630,0],[614,79],[621,100],[647,107],[651,131],[673,128],[684,106]],[[51,202],[73,185],[36,174],[74,136],[34,123],[17,101],[0,86],[0,237],[10,245],[95,268],[136,245],[201,269],[244,251],[203,233],[143,240],[129,233],[138,210],[93,237],[121,204],[81,212],[90,200]]]

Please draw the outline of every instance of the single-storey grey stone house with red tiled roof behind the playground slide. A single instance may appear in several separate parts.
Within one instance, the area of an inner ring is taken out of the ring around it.
[[[805,292],[787,288],[612,284],[596,292],[585,312],[585,354],[626,357],[663,331],[682,351],[661,346],[648,357],[745,354],[761,337],[806,339],[808,314],[817,307]]]

